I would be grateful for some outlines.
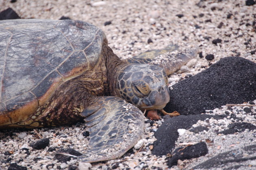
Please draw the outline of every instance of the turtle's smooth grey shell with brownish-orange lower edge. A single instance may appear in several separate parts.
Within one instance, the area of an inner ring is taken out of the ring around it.
[[[103,41],[102,30],[76,20],[1,21],[0,125],[25,120],[62,82],[93,69]]]

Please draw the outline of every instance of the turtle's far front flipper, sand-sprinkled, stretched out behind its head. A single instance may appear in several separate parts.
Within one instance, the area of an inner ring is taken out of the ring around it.
[[[167,75],[174,73],[182,65],[197,55],[197,47],[186,45],[185,47],[170,44],[163,49],[153,49],[123,60],[133,64],[151,64],[162,67]]]

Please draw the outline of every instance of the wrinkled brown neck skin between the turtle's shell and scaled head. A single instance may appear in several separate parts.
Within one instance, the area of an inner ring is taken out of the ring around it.
[[[119,97],[116,92],[117,78],[121,70],[128,64],[122,62],[113,50],[106,45],[104,54],[106,55],[107,88],[106,95]]]

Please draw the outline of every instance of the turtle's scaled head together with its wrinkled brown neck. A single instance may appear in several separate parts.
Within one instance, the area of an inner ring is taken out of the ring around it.
[[[160,110],[169,102],[167,75],[163,68],[126,64],[106,46],[105,95],[120,97],[142,110]]]

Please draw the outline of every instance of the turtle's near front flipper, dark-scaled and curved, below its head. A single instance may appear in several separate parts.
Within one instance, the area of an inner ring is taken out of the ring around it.
[[[142,112],[118,97],[97,97],[81,114],[86,117],[90,150],[78,157],[80,161],[119,158],[144,135]]]

